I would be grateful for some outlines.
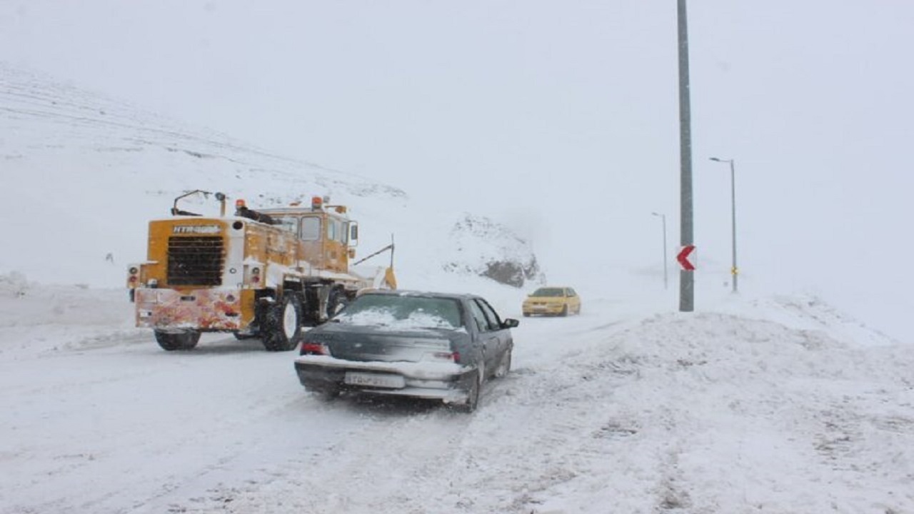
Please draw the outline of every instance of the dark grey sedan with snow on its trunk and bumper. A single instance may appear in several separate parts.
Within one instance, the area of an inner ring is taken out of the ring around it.
[[[441,400],[473,412],[485,380],[511,369],[516,319],[473,294],[371,291],[305,334],[305,389]]]

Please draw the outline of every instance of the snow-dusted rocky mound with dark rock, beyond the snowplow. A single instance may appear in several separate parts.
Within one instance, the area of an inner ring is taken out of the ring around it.
[[[454,223],[451,242],[453,258],[444,263],[445,271],[473,273],[514,287],[544,280],[529,242],[494,220],[467,213]]]

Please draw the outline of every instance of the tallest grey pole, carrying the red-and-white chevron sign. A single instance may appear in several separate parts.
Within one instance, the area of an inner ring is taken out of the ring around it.
[[[685,0],[678,0],[679,26],[679,166],[680,216],[679,243],[683,248],[693,245],[692,218],[692,112],[689,104],[688,27]],[[679,272],[679,311],[695,310],[695,273]]]

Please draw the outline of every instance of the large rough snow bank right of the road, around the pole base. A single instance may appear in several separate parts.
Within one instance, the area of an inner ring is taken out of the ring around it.
[[[536,512],[911,510],[911,348],[842,339],[716,313],[654,316],[607,337],[525,394],[558,393],[548,417],[529,423],[579,434],[534,466],[563,478],[539,477],[529,503]]]

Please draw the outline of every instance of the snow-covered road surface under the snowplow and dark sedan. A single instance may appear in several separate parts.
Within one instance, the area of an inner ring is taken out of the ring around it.
[[[207,510],[276,476],[343,483],[373,466],[450,461],[453,444],[459,447],[474,423],[434,403],[322,402],[298,384],[293,353],[264,352],[256,340],[211,335],[194,352],[166,353],[149,331],[124,325],[122,292],[102,305],[110,311],[95,320],[100,325],[42,325],[48,316],[85,321],[95,309],[80,307],[90,294],[79,293],[5,304],[25,312],[7,310],[2,327],[2,428],[9,437],[0,464],[11,477],[4,511]],[[582,320],[526,325],[558,337]],[[567,351],[548,345],[551,353],[534,352],[523,330],[517,338],[517,376],[529,373],[526,362]],[[483,404],[497,404],[514,382],[493,383]],[[400,478],[371,482],[383,499],[403,488]]]

